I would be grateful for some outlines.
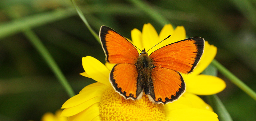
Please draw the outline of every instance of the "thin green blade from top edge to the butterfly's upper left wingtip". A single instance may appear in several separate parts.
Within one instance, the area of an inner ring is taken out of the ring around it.
[[[89,25],[88,21],[85,19],[83,12],[80,10],[80,8],[76,5],[74,0],[71,0],[73,6],[76,9],[76,12],[78,13],[79,17],[83,20],[84,24],[87,26],[89,31],[92,33],[92,35],[95,37],[95,39],[100,43],[99,34],[97,34],[95,31],[93,31],[92,27]]]

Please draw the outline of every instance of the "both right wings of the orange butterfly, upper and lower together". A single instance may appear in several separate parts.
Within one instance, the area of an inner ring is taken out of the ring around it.
[[[177,100],[185,92],[181,73],[190,73],[196,67],[204,51],[204,39],[188,38],[157,49],[150,58],[156,66],[151,80],[154,93],[149,94],[157,103]]]

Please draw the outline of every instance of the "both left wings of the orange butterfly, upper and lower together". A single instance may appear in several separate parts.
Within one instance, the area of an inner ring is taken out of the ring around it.
[[[106,61],[116,64],[109,76],[112,87],[125,99],[137,99],[142,92],[137,86],[135,61],[139,57],[137,49],[115,30],[101,26],[100,41],[106,55]]]

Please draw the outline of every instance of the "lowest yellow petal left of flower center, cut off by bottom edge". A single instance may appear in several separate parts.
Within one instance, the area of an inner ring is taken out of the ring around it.
[[[95,117],[100,115],[100,108],[99,108],[100,102],[93,104],[86,110],[68,117],[69,121],[92,121]]]

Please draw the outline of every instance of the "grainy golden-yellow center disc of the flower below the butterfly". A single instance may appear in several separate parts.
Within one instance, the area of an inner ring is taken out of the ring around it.
[[[100,102],[100,116],[102,121],[163,121],[164,105],[154,104],[143,95],[140,100],[125,100],[115,92],[108,89]]]

